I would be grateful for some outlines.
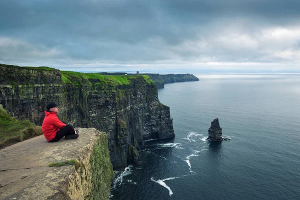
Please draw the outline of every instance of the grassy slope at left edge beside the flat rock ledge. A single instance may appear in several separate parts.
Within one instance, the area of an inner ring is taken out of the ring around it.
[[[11,117],[0,104],[0,148],[42,134],[41,127]]]

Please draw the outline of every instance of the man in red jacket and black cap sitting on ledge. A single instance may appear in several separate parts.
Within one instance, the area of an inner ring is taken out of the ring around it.
[[[65,139],[76,139],[79,135],[75,132],[71,124],[61,122],[57,117],[58,104],[50,102],[47,104],[45,118],[42,122],[41,129],[45,138],[49,142],[56,142],[63,136]]]

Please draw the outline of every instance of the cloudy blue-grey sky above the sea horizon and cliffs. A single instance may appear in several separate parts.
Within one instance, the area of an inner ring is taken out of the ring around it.
[[[299,0],[0,0],[0,63],[300,72]]]

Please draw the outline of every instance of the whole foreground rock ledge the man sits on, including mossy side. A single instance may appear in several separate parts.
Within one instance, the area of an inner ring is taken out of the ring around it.
[[[40,135],[1,149],[0,199],[108,199],[107,136],[78,129],[75,140],[48,143]]]

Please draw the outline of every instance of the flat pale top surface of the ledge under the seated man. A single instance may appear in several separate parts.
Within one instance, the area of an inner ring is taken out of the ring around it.
[[[49,167],[48,164],[80,160],[99,134],[95,128],[78,129],[77,139],[49,143],[40,135],[1,149],[0,199],[51,199],[61,193],[61,188],[67,187],[65,182],[75,170],[74,166]]]

